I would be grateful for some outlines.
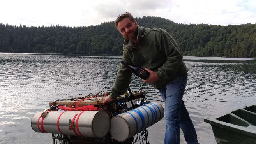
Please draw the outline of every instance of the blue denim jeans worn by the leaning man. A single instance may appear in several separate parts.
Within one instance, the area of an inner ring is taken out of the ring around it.
[[[180,128],[188,144],[198,144],[196,130],[182,100],[186,84],[187,76],[177,78],[158,89],[165,103],[164,144],[179,144]]]

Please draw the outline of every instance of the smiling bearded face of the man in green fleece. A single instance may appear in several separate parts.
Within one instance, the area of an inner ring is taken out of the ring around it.
[[[117,24],[117,29],[122,34],[122,36],[131,41],[137,41],[137,22],[132,22],[130,18],[124,18]]]

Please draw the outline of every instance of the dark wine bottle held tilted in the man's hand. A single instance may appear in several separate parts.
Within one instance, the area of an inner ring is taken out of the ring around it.
[[[136,76],[140,77],[141,79],[148,79],[150,73],[147,70],[140,67],[128,65],[124,61],[121,61],[121,63],[127,66]]]

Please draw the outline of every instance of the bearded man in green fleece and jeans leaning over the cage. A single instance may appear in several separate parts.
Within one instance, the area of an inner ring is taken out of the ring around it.
[[[150,75],[143,80],[157,88],[165,102],[165,144],[179,144],[180,127],[188,144],[198,144],[197,135],[182,100],[187,83],[188,69],[175,40],[160,28],[140,27],[131,13],[118,16],[115,26],[125,38],[122,61],[145,68]],[[132,72],[119,66],[109,102],[127,91]]]

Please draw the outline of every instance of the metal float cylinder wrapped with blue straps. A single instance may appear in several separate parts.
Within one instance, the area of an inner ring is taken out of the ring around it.
[[[133,135],[145,130],[164,117],[164,108],[157,102],[151,102],[132,109],[117,116],[110,121],[109,132],[118,142],[123,142]]]

